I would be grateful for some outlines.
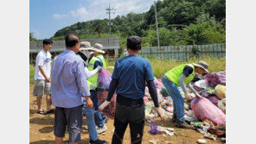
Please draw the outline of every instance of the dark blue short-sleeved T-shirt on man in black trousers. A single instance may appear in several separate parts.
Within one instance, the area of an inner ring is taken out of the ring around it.
[[[118,59],[112,78],[118,80],[117,94],[131,99],[144,97],[145,81],[154,80],[150,61],[138,55]]]

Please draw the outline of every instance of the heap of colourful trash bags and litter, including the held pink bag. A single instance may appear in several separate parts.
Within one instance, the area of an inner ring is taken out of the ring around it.
[[[105,69],[99,72],[98,97],[100,104],[106,100],[111,75]],[[154,82],[157,87],[158,102],[168,116],[166,121],[170,122],[173,116],[172,98],[160,80],[155,78]],[[221,141],[226,141],[226,72],[208,73],[202,78],[194,79],[192,85],[202,98],[195,97],[190,91],[192,97],[194,97],[193,100],[184,99],[185,121],[189,122],[196,131],[202,133],[208,139],[215,141],[217,137],[221,137]],[[182,88],[178,87],[178,90],[181,92],[182,97],[184,97]],[[115,114],[116,97],[115,94],[112,97],[111,104],[103,111],[104,115],[111,119],[114,118]],[[147,87],[145,89],[144,103],[145,119],[150,123],[150,133],[155,135],[163,133],[174,135],[173,128],[164,128],[154,124],[154,118],[158,115],[153,109],[154,103],[151,100]]]

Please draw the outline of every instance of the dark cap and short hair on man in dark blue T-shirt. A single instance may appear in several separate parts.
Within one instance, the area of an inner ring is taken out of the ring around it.
[[[127,47],[131,50],[141,49],[141,38],[137,35],[131,35],[127,38]]]

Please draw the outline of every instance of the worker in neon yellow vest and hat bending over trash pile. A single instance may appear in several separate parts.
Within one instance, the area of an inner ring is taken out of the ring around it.
[[[180,128],[191,128],[191,126],[184,121],[184,99],[177,89],[177,86],[182,87],[186,99],[191,99],[187,88],[185,85],[188,85],[189,89],[195,93],[195,97],[200,96],[193,86],[190,84],[190,81],[193,80],[195,73],[204,74],[208,72],[208,64],[204,61],[199,61],[197,64],[183,64],[172,68],[169,72],[166,72],[162,77],[163,85],[170,94],[170,97],[173,99],[174,112],[171,122],[175,122],[176,127]]]

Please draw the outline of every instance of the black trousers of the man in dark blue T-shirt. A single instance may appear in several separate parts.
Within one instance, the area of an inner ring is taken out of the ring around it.
[[[131,144],[141,144],[144,133],[144,105],[127,107],[117,103],[112,144],[123,143],[128,123],[131,132]]]

